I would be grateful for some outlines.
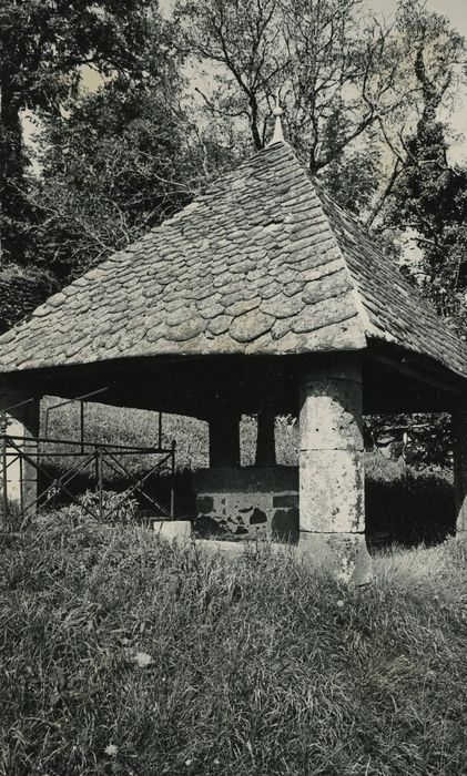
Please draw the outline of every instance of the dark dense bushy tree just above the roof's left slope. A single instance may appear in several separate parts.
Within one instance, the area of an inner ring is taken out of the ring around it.
[[[113,80],[45,130],[35,206],[41,263],[61,282],[125,247],[235,162],[179,102],[177,73]]]

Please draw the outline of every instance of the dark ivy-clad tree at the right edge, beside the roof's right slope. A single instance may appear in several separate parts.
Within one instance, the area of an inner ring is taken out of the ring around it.
[[[422,251],[423,290],[441,315],[459,324],[466,315],[467,170],[448,161],[441,109],[465,61],[465,43],[446,19],[423,8],[414,13],[406,6],[402,21],[414,52],[419,119],[415,131],[399,135],[398,146],[393,145],[395,174],[383,223],[414,233]]]

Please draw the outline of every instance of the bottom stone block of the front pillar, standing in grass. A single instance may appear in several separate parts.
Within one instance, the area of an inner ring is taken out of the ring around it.
[[[297,552],[342,582],[363,585],[373,579],[373,561],[363,533],[301,531]]]

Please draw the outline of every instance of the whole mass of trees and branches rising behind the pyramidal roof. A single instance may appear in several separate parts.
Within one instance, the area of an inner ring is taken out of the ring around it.
[[[465,42],[423,0],[392,22],[362,0],[176,0],[170,19],[156,0],[4,0],[0,53],[3,266],[61,285],[124,247],[263,147],[278,92],[311,170],[380,238],[412,234],[425,293],[466,330],[447,121]]]

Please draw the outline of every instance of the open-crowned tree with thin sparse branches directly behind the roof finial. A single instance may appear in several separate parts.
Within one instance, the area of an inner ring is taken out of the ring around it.
[[[264,145],[281,90],[291,142],[312,170],[337,160],[404,100],[400,51],[362,0],[179,0],[181,45],[211,71],[214,114],[247,119]]]

